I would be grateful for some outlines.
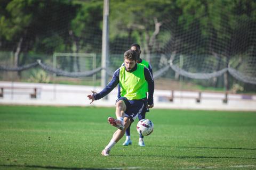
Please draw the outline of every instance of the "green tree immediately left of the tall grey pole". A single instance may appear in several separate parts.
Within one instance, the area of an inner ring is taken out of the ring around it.
[[[74,42],[73,51],[75,53],[99,53],[103,3],[91,1],[78,3],[78,5],[76,17],[71,21],[69,30],[69,35]],[[80,71],[79,57],[76,57],[76,65]]]

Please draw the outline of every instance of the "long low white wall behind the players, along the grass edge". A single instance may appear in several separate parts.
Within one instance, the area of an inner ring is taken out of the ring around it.
[[[2,105],[114,107],[117,99],[117,88],[110,92],[107,101],[97,100],[92,104],[87,99],[87,95],[91,94],[91,90],[100,92],[101,87],[0,81],[0,88],[3,88],[3,97],[0,97]],[[30,97],[30,94],[34,93],[34,88],[37,89],[37,98]],[[198,92],[174,91],[173,102],[169,101],[171,94],[170,90],[155,90],[155,108],[256,111],[255,95],[228,95],[228,103],[225,104],[222,101],[225,94],[221,93],[202,92],[200,103],[196,103]]]

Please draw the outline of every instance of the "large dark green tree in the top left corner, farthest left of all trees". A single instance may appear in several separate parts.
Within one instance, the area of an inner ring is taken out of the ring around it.
[[[68,42],[68,27],[75,14],[75,6],[70,1],[12,0],[1,7],[4,12],[0,33],[2,41],[9,43],[7,48],[15,49],[15,66],[25,63],[26,53],[30,50],[52,54]],[[16,43],[13,45],[12,42]],[[44,50],[46,46],[47,50]],[[22,60],[21,52],[25,53]]]

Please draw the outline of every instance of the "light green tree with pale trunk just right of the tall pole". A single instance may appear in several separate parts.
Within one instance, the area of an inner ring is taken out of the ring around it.
[[[161,25],[170,22],[166,20],[170,13],[177,13],[174,1],[118,0],[110,3],[110,40],[124,36],[129,41],[133,37],[143,46],[147,61],[150,61],[150,55],[157,46],[156,37]]]

